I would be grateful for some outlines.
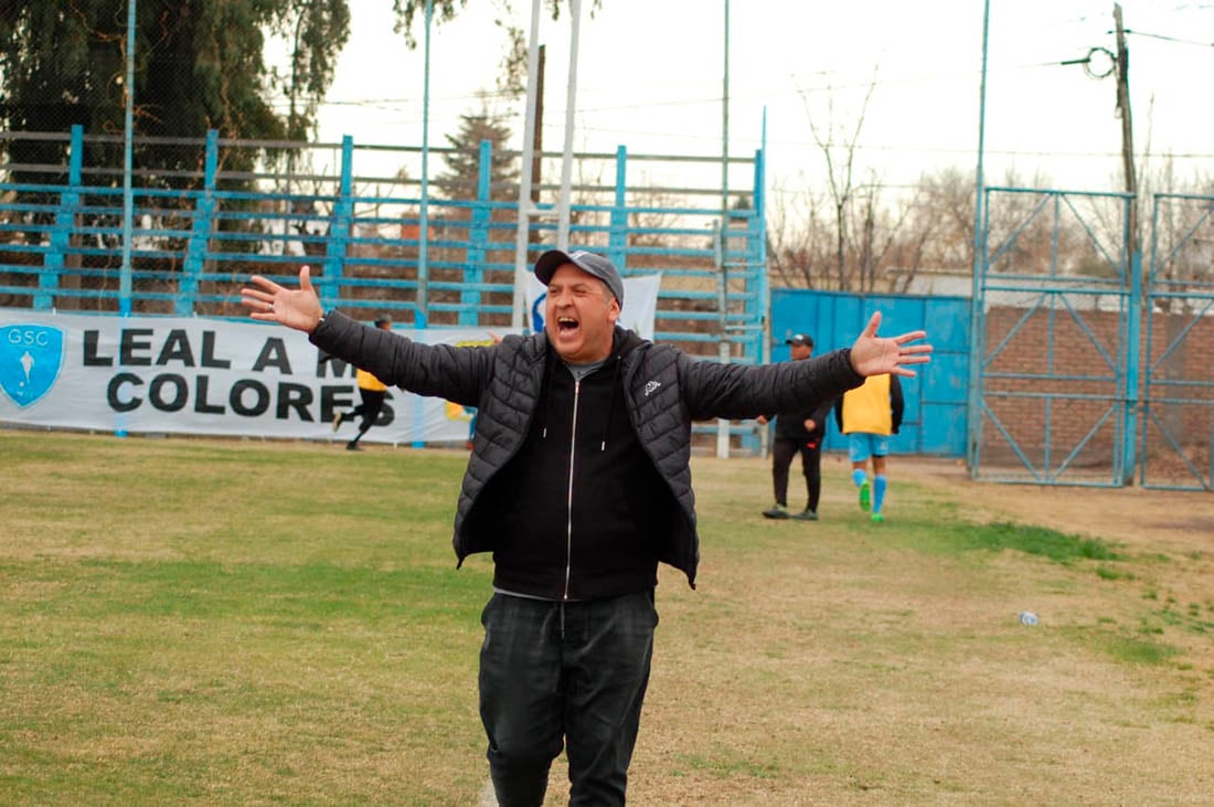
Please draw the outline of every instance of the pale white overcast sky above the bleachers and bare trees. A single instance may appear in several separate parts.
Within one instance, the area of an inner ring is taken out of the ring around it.
[[[322,108],[324,142],[421,146],[424,51],[392,30],[387,0],[351,0],[352,36]],[[514,0],[529,29],[531,0]],[[720,157],[725,0],[583,0],[577,150]],[[982,0],[733,0],[730,5],[728,150],[751,155],[766,115],[773,188],[821,183],[819,130],[855,127],[874,83],[857,149],[857,178],[914,182],[977,160]],[[1181,177],[1214,175],[1214,0],[1123,0],[1131,32],[1135,150],[1176,155]],[[505,40],[489,0],[435,25],[430,144],[446,146],[460,114],[493,91]],[[1051,187],[1119,189],[1121,123],[1113,76],[1079,66],[1093,47],[1116,51],[1112,0],[991,0],[986,176],[1015,167]],[[1167,39],[1170,38],[1170,39]],[[541,13],[546,44],[544,148],[561,150],[569,21]],[[521,147],[522,100],[493,102],[511,115]]]

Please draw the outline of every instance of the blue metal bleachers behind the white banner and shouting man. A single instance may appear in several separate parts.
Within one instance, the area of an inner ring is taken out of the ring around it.
[[[127,222],[125,172],[89,163],[91,154],[113,153],[121,138],[86,136],[79,126],[0,132],[0,153],[11,154],[23,140],[63,159],[0,163],[0,306],[237,317],[249,274],[289,283],[307,262],[325,306],[391,313],[420,328],[510,324],[518,192],[499,178],[510,170],[498,170],[501,155],[488,142],[480,144],[469,187],[429,180],[422,229],[416,148],[357,144],[348,136],[317,144],[232,141],[215,131],[197,140],[136,138]],[[141,167],[140,155],[158,148],[186,154],[172,164],[198,169]],[[261,161],[229,170],[238,152],[261,154]],[[287,164],[301,170],[274,167],[273,155],[287,152],[294,154]],[[515,175],[531,170],[511,157]],[[557,174],[551,163],[560,157],[540,155],[548,175]],[[625,277],[662,273],[656,339],[705,359],[717,360],[724,349],[731,362],[762,363],[762,150],[730,158],[737,172],[731,199],[748,204],[728,211],[721,210],[720,155],[619,147],[575,159],[579,175],[609,181],[573,186],[571,246],[607,254]],[[537,206],[552,215],[529,218],[528,261],[556,240],[557,188],[537,189]]]

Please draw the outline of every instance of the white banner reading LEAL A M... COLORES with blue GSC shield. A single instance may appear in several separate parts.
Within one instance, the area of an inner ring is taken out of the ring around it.
[[[431,345],[493,343],[483,328],[396,333]],[[330,424],[361,402],[354,368],[320,358],[305,334],[251,320],[0,309],[0,421],[345,442],[357,426],[334,434]],[[363,441],[463,443],[472,414],[390,388]]]

